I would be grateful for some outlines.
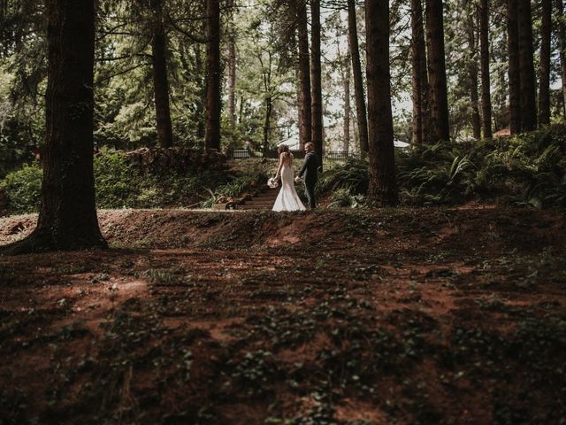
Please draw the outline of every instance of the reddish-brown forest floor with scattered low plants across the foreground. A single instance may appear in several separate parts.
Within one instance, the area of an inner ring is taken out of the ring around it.
[[[563,210],[100,223],[109,250],[0,257],[1,424],[566,421]]]

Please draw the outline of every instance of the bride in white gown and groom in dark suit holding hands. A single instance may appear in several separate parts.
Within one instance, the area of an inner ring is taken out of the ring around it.
[[[273,205],[273,211],[303,211],[305,206],[294,189],[294,183],[300,182],[304,175],[304,193],[309,201],[309,209],[313,210],[317,207],[317,199],[315,197],[315,186],[317,184],[318,160],[313,143],[305,143],[305,157],[301,170],[297,177],[294,178],[293,170],[293,154],[289,151],[287,145],[279,146],[279,167],[275,174],[275,182],[281,177],[281,189],[279,195]]]

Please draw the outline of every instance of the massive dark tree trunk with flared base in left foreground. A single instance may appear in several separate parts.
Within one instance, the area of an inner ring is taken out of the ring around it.
[[[107,246],[93,176],[94,0],[48,0],[48,84],[42,205],[34,232],[5,254]]]

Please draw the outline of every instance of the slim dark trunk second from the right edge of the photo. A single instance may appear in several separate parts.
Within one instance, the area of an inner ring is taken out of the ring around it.
[[[541,0],[542,27],[540,27],[539,66],[539,125],[550,124],[550,37],[552,33],[551,0]]]

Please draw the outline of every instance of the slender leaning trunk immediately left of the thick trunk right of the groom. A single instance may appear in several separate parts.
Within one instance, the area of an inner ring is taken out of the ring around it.
[[[357,132],[360,139],[360,152],[363,155],[368,147],[368,119],[365,112],[365,95],[363,94],[363,73],[360,61],[360,47],[357,40],[356,0],[348,0],[348,42],[352,56],[352,73],[354,74],[354,96],[356,97]]]

